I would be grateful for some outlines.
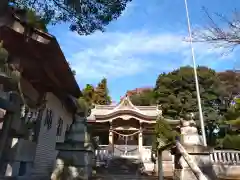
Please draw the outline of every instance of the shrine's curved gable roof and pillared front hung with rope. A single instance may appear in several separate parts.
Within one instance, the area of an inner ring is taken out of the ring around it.
[[[118,149],[122,154],[135,147],[136,154],[139,154],[143,147],[152,145],[154,126],[160,115],[158,106],[134,106],[126,96],[118,105],[96,105],[88,123],[100,145],[113,151]],[[179,120],[168,122],[172,126],[179,124]]]

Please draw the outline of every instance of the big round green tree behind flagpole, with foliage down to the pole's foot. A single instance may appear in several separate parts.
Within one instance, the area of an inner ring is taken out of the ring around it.
[[[208,142],[215,142],[214,130],[221,118],[219,109],[222,104],[221,81],[216,72],[207,67],[198,67],[198,79],[202,110]],[[157,102],[162,105],[163,115],[166,118],[188,119],[190,113],[195,114],[198,120],[198,106],[193,68],[181,67],[168,74],[160,74],[156,86]],[[198,121],[197,121],[198,122]]]

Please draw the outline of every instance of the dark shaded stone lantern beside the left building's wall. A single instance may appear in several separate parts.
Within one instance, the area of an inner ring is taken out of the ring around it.
[[[80,109],[78,101],[74,98],[72,100],[77,106],[77,112],[66,132],[64,143],[57,144],[59,154],[52,180],[64,168],[68,169],[70,179],[89,179],[92,174],[94,148],[88,133],[86,114]]]

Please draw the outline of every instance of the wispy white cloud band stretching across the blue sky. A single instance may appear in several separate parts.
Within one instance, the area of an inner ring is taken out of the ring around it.
[[[61,45],[77,78],[93,80],[152,70],[169,71],[187,65],[191,62],[191,54],[189,44],[183,41],[184,35],[138,31],[99,32],[83,37],[69,32],[62,37]],[[221,56],[219,49],[206,44],[196,44],[195,51],[196,59],[202,65],[214,66]]]

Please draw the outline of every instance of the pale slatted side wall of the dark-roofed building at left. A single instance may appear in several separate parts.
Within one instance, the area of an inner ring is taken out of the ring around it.
[[[34,175],[50,175],[56,160],[57,151],[56,146],[56,133],[57,125],[60,117],[66,118],[68,123],[71,123],[71,116],[67,114],[61,101],[52,93],[47,93],[46,96],[47,105],[43,113],[41,122],[41,129],[38,138],[38,144],[36,148],[36,155],[33,166]],[[46,124],[47,109],[52,110],[52,122],[51,128]],[[64,113],[65,112],[65,113]],[[70,116],[70,117],[69,117]],[[65,122],[63,120],[63,122]],[[66,130],[66,123],[63,123],[64,131]],[[64,141],[64,134],[60,136],[59,141]]]

